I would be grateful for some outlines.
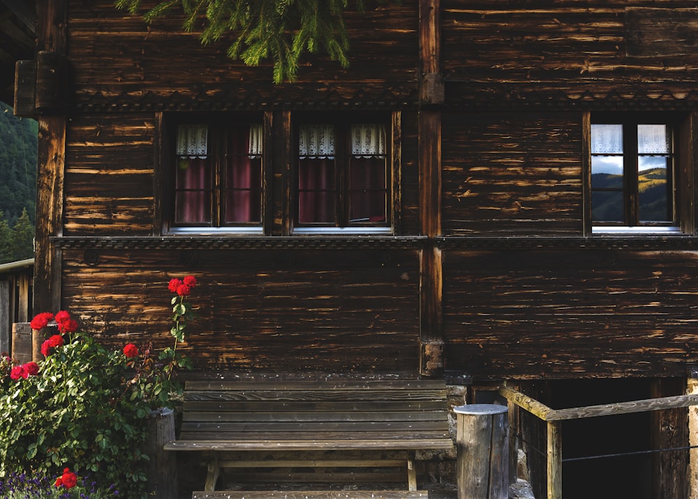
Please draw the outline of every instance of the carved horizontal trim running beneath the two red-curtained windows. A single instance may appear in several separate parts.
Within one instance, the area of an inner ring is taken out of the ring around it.
[[[419,250],[424,237],[53,237],[64,250]]]

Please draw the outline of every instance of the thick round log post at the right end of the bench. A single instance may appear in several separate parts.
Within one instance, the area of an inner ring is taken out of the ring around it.
[[[509,497],[509,409],[469,404],[456,412],[458,499]]]

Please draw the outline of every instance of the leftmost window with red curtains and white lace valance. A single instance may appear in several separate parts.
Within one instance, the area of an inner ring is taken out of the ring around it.
[[[262,223],[262,124],[178,124],[172,230],[251,229]]]

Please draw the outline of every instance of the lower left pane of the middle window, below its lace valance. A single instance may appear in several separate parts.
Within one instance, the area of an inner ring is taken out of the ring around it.
[[[334,223],[334,159],[298,161],[298,222]]]

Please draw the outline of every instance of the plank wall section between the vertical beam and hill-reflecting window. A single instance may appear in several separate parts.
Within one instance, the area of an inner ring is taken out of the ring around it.
[[[444,113],[445,236],[579,235],[580,113]]]

